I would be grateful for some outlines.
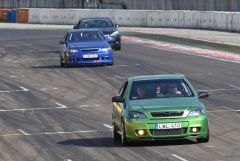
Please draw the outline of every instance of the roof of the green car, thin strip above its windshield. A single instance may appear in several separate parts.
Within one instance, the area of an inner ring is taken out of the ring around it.
[[[143,75],[129,77],[129,81],[155,80],[155,79],[184,79],[182,74],[161,74],[161,75]]]

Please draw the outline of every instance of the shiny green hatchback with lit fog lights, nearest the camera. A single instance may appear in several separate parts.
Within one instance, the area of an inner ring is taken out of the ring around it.
[[[113,139],[130,141],[194,137],[209,141],[205,107],[183,75],[130,77],[112,98]]]

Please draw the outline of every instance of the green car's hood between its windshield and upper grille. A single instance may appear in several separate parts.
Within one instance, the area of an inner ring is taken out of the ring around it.
[[[162,98],[130,100],[129,111],[152,112],[152,111],[190,111],[202,106],[198,98]]]

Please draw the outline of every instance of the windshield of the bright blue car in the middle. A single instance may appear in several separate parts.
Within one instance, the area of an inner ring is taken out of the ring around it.
[[[70,42],[83,42],[83,41],[101,41],[104,36],[98,31],[83,31],[72,32],[69,34],[68,41]]]

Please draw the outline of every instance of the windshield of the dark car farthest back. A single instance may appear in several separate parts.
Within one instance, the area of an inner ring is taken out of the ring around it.
[[[82,20],[82,28],[111,28],[113,23],[108,19],[87,19]]]

